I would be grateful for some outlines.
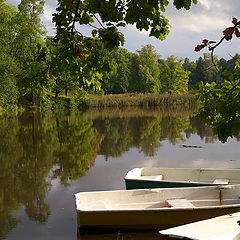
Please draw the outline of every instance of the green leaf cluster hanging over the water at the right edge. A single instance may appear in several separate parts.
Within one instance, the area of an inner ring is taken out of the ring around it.
[[[211,126],[221,142],[240,132],[240,64],[233,71],[224,71],[228,79],[220,84],[200,84],[202,104],[199,117]]]

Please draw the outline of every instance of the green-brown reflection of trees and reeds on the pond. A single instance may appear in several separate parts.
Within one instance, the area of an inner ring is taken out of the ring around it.
[[[46,196],[53,180],[72,186],[95,165],[97,156],[119,158],[135,148],[151,157],[163,141],[176,145],[196,133],[208,143],[217,141],[211,129],[190,115],[182,110],[127,109],[68,115],[32,112],[0,119],[0,239],[19,224],[13,213],[20,209],[30,220],[46,224],[53,204]]]

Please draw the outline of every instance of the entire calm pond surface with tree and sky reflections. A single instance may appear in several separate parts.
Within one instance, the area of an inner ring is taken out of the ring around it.
[[[186,111],[1,118],[0,239],[160,239],[157,232],[77,236],[73,194],[124,189],[124,176],[134,167],[240,168],[239,153],[237,139],[220,143]]]

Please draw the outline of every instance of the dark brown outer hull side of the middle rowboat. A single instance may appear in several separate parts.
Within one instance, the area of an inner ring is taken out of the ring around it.
[[[240,207],[214,209],[169,209],[167,211],[77,211],[78,227],[87,229],[163,230],[240,211]]]

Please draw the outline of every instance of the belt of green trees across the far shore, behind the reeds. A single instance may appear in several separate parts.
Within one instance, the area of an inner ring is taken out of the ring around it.
[[[163,59],[152,45],[132,53],[96,43],[91,55],[76,46],[69,63],[61,36],[46,36],[42,13],[41,2],[21,1],[16,8],[0,1],[0,112],[24,104],[51,107],[59,98],[80,103],[86,94],[186,94],[199,82],[223,81],[221,72],[240,60],[239,54],[230,60],[214,56],[216,68],[208,53],[196,61]]]

